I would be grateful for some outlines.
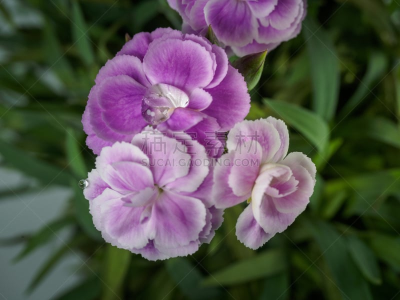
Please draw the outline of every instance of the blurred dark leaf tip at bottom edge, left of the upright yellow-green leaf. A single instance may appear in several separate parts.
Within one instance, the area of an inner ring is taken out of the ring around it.
[[[93,300],[101,292],[101,283],[98,277],[93,276],[81,284],[72,287],[55,300]]]

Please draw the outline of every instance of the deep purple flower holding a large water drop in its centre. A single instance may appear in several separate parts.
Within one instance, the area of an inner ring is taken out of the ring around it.
[[[96,154],[153,125],[163,132],[185,131],[218,156],[223,139],[215,132],[242,120],[249,101],[243,76],[222,48],[158,28],[135,34],[99,70],[82,123]]]

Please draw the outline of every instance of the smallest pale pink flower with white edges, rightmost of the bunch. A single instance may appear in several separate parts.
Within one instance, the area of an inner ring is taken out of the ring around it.
[[[215,166],[215,206],[249,202],[237,220],[236,236],[252,249],[286,229],[313,192],[315,165],[303,153],[287,154],[288,145],[283,121],[273,117],[245,120],[229,131],[228,153]]]

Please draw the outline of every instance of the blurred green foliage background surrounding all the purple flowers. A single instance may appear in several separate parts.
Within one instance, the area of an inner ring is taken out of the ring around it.
[[[233,207],[188,257],[103,242],[77,184],[95,159],[87,94],[125,33],[180,24],[165,0],[0,0],[0,296],[400,299],[399,0],[309,0],[301,34],[266,56],[248,118],[285,120],[318,169],[286,231],[250,250]]]

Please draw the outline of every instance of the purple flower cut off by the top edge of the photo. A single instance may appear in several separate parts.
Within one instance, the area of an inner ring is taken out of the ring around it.
[[[306,13],[305,0],[168,0],[182,16],[186,32],[216,37],[238,56],[271,50],[296,36]]]

